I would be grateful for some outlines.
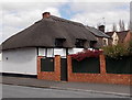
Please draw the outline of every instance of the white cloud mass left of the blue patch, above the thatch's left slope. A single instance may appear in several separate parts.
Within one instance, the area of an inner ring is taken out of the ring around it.
[[[42,19],[44,11],[61,16],[58,11],[63,3],[4,3],[2,4],[2,42],[19,31]],[[1,20],[0,19],[0,20]]]

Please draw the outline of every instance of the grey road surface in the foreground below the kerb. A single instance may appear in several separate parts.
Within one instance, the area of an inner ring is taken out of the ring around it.
[[[2,98],[125,98],[86,91],[2,85]]]

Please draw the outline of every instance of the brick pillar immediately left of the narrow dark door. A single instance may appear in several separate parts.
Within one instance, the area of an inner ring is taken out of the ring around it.
[[[55,80],[61,81],[61,56],[55,55]]]

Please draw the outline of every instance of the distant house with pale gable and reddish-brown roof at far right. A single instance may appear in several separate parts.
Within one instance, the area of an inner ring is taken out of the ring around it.
[[[109,35],[112,40],[109,40],[109,45],[117,45],[124,43],[124,41],[130,40],[130,31],[122,31],[122,32],[107,32],[106,34]],[[127,37],[127,38],[125,38]]]

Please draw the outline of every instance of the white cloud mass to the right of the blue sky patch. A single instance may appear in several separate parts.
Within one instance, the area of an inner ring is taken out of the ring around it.
[[[106,24],[106,31],[111,31],[112,24],[123,20],[125,25],[130,21],[130,4],[129,3],[73,3],[70,4],[73,12],[73,21],[82,22],[85,25],[97,26],[97,24]]]

